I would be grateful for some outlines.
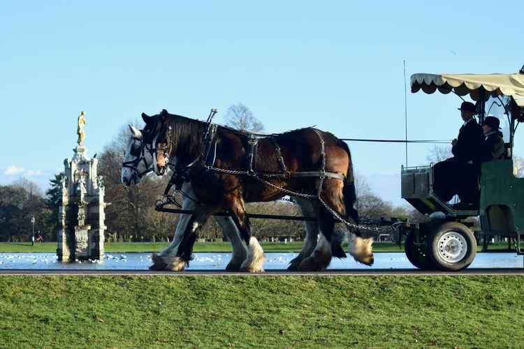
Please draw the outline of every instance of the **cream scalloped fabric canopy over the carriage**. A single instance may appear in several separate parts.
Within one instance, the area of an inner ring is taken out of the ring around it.
[[[479,88],[488,91],[489,96],[512,96],[519,107],[524,107],[524,74],[414,74],[412,92],[422,89],[432,94],[437,89],[443,94],[452,90],[459,96],[470,94],[473,101],[479,101]]]

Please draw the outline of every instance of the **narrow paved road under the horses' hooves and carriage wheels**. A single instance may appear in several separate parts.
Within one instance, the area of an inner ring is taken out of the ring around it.
[[[449,276],[449,275],[524,275],[524,268],[518,269],[465,269],[462,272],[429,272],[417,269],[340,269],[331,272],[287,272],[286,270],[268,270],[264,273],[217,272],[211,270],[191,270],[187,272],[152,272],[150,270],[64,270],[64,269],[0,269],[2,275],[29,276]]]

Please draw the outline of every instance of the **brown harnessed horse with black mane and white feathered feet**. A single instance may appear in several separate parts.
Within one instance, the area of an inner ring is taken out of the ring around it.
[[[153,155],[155,172],[163,175],[168,166],[185,168],[186,179],[191,181],[199,202],[175,258],[166,262],[154,255],[154,269],[183,269],[191,260],[198,230],[219,210],[231,212],[248,253],[261,253],[258,242],[251,236],[245,202],[268,202],[284,195],[302,199],[308,195],[319,220],[319,243],[299,269],[316,270],[317,265],[325,265],[319,260],[324,258],[323,250],[328,250],[329,259],[331,255],[346,257],[340,239],[333,239],[336,218],[330,212],[358,221],[353,207],[356,193],[351,154],[342,140],[315,128],[302,128],[255,141],[253,135],[218,126],[212,140],[204,142],[209,125],[203,121],[169,114],[166,110],[153,117],[146,114],[142,117],[146,124],[143,142]],[[351,255],[371,265],[372,240],[356,237],[350,243]],[[251,260],[263,257],[252,255]],[[254,265],[256,262],[245,269],[261,269]]]

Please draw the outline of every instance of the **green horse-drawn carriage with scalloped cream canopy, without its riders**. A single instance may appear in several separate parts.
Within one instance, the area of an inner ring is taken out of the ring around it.
[[[401,169],[401,196],[428,223],[400,227],[405,236],[407,258],[420,269],[456,271],[468,267],[474,260],[477,239],[483,251],[494,236],[505,237],[521,250],[524,235],[524,179],[514,174],[514,135],[524,121],[524,74],[435,75],[414,74],[412,92],[432,94],[453,92],[469,95],[476,102],[479,121],[489,115],[507,121],[504,144],[507,160],[489,161],[481,165],[481,198],[478,209],[458,209],[440,200],[433,191],[435,173],[432,164]],[[501,120],[502,121],[502,120]],[[502,124],[502,123],[501,123]],[[480,229],[476,229],[476,222]],[[474,230],[476,230],[474,232]]]

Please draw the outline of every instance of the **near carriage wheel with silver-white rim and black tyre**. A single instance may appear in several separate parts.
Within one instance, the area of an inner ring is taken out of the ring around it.
[[[476,256],[476,239],[470,228],[458,222],[440,225],[428,239],[431,260],[437,269],[458,272],[472,264]]]

